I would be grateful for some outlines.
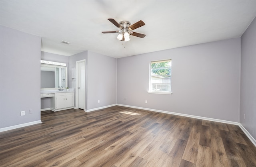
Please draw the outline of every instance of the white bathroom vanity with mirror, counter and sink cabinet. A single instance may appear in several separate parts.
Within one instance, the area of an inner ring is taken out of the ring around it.
[[[46,109],[60,111],[74,107],[74,88],[66,89],[67,70],[66,63],[41,60],[41,99],[45,98],[41,102],[47,101]]]

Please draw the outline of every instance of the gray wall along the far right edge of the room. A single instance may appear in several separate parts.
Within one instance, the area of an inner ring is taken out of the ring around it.
[[[240,123],[256,139],[256,18],[242,35]]]

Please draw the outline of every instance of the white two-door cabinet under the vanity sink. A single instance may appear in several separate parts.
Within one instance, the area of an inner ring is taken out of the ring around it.
[[[59,111],[74,107],[74,92],[55,93],[51,100],[51,110]]]

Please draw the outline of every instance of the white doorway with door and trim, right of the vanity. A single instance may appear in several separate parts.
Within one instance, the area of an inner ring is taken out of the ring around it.
[[[85,59],[76,61],[76,108],[85,109]]]

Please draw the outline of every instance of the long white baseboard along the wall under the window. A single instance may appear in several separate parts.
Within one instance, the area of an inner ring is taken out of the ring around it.
[[[162,112],[162,113],[173,114],[173,115],[178,115],[178,116],[186,116],[186,117],[190,117],[190,118],[197,118],[197,119],[200,119],[200,120],[208,120],[208,121],[214,121],[214,122],[221,122],[221,123],[226,123],[226,124],[238,125],[238,122],[219,120],[219,119],[207,118],[207,117],[202,117],[202,116],[193,116],[193,115],[181,114],[181,113],[177,113],[177,112],[169,112],[169,111],[163,111],[163,110],[155,110],[155,109],[151,109],[151,108],[128,106],[128,105],[123,105],[123,104],[116,104],[116,105],[124,106],[124,107],[130,107],[130,108],[138,108],[138,109],[142,109],[142,110],[149,110],[149,111],[154,111],[154,112]]]

